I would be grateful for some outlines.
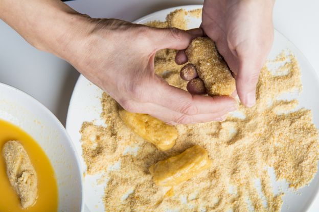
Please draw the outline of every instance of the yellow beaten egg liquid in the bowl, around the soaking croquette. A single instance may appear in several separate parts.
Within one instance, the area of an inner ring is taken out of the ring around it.
[[[2,155],[3,145],[10,140],[19,141],[27,151],[38,177],[38,198],[35,204],[22,209],[20,200],[9,182],[6,163]],[[58,188],[54,170],[42,148],[24,130],[0,120],[0,211],[32,212],[57,211]]]

